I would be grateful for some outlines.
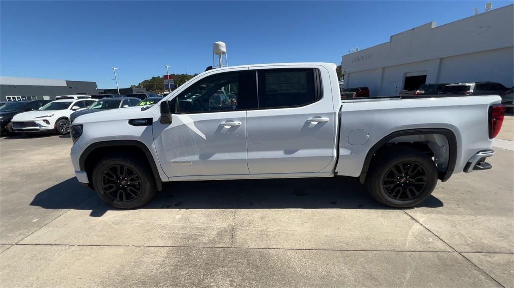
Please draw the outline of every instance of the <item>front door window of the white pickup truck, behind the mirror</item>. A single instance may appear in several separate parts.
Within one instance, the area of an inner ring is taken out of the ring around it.
[[[177,113],[234,111],[240,88],[240,73],[221,73],[198,80],[180,93]]]

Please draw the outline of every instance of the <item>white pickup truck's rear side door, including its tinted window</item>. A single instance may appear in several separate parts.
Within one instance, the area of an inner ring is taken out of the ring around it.
[[[335,161],[337,114],[331,86],[322,87],[321,71],[250,72],[257,91],[257,109],[248,110],[246,120],[250,173],[313,173]]]

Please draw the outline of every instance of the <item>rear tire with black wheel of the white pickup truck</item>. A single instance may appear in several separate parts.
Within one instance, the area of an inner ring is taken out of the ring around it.
[[[411,208],[427,199],[436,183],[437,168],[429,156],[410,147],[395,147],[372,161],[365,184],[378,202]]]

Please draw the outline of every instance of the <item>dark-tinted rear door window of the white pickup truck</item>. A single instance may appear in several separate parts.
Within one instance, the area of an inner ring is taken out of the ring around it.
[[[317,101],[321,98],[321,93],[318,93],[321,86],[318,80],[315,83],[315,74],[318,75],[315,69],[258,71],[258,107],[297,107]]]

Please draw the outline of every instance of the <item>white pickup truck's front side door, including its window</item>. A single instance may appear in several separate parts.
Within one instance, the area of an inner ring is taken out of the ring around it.
[[[249,174],[246,76],[247,69],[199,79],[175,97],[171,124],[154,120],[155,149],[168,177]]]

